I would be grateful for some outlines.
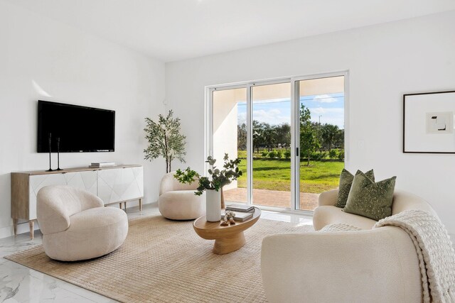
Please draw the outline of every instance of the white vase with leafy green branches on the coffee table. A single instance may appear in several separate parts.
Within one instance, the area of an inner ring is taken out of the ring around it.
[[[205,196],[207,221],[220,221],[220,209],[225,208],[223,187],[242,175],[238,167],[240,159],[229,160],[229,155],[225,153],[223,160],[225,161],[223,170],[219,170],[215,166],[216,159],[208,156],[205,162],[210,165],[208,169],[210,177],[202,177],[190,167],[183,171],[177,170],[174,175],[182,183],[198,182],[199,186],[194,194],[200,196],[203,192],[207,192]]]

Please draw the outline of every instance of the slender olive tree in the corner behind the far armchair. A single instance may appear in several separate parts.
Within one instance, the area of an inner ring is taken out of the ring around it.
[[[149,118],[145,119],[145,138],[149,146],[144,150],[145,160],[154,160],[159,157],[166,159],[166,173],[171,172],[171,162],[177,158],[185,163],[186,136],[181,134],[180,119],[173,118],[173,111],[166,117],[158,115],[158,122]]]

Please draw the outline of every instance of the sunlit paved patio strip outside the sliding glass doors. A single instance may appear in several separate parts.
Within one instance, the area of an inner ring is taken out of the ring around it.
[[[234,188],[224,191],[225,201],[247,202],[247,189]],[[319,194],[300,193],[300,210],[313,211],[318,206]],[[253,189],[253,201],[257,205],[289,208],[291,206],[291,192],[268,189]]]

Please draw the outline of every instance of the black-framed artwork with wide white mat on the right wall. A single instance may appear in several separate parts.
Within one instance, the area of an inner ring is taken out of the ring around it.
[[[403,153],[455,153],[455,91],[403,95]]]

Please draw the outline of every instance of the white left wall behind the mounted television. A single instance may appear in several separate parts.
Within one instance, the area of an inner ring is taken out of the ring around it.
[[[165,166],[143,160],[143,128],[164,113],[164,75],[162,62],[0,1],[0,238],[12,232],[10,172],[48,168],[36,153],[38,99],[115,110],[115,152],[63,153],[60,166],[144,165],[145,202],[156,201]]]

